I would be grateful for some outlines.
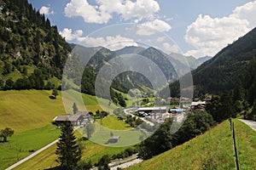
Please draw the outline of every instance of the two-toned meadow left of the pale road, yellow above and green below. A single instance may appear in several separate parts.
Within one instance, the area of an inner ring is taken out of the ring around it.
[[[15,130],[8,143],[0,143],[0,169],[17,161],[17,148],[20,144],[24,144],[18,156],[21,159],[31,154],[28,150],[38,150],[57,139],[58,132],[52,130],[55,127],[51,122],[55,116],[64,115],[66,111],[61,92],[57,99],[50,99],[51,93],[51,90],[0,91],[0,129],[11,127]],[[68,94],[66,101],[72,108],[73,96],[79,96],[79,93],[70,90]],[[82,94],[82,99],[88,111],[102,110],[97,105],[96,97]],[[108,105],[107,99],[100,100]],[[107,109],[112,111],[112,108],[113,105],[110,105]],[[38,137],[38,133],[41,136]]]

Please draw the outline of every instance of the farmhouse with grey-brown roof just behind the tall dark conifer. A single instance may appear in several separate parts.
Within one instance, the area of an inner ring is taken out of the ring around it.
[[[90,121],[90,114],[87,111],[79,111],[73,115],[55,116],[53,121],[56,124],[69,121],[73,125],[82,125],[82,124],[84,124],[84,122]]]

